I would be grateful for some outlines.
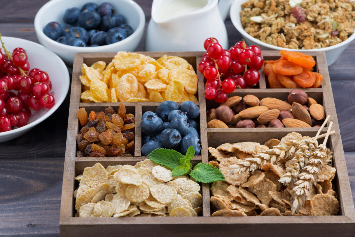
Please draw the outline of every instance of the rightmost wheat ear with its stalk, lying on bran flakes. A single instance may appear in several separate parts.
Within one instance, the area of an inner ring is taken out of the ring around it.
[[[291,196],[291,211],[299,212],[304,205],[308,194],[312,190],[312,185],[316,185],[318,174],[324,165],[324,158],[327,157],[327,147],[326,143],[329,137],[330,130],[332,128],[333,122],[329,123],[329,127],[326,133],[326,137],[322,144],[317,146],[317,149],[311,153],[310,158],[307,161],[305,167],[302,168],[302,173],[297,175],[298,181],[295,182],[295,187],[293,188],[293,195]],[[319,133],[318,133],[319,134]],[[318,135],[317,134],[317,135]]]

